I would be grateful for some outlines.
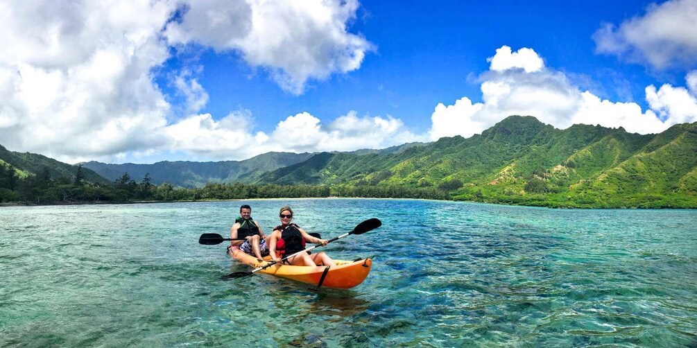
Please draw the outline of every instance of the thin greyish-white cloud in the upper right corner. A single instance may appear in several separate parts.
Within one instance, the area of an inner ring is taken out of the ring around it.
[[[604,24],[593,35],[597,52],[648,63],[657,69],[697,65],[696,0],[671,0],[650,5],[645,15]]]

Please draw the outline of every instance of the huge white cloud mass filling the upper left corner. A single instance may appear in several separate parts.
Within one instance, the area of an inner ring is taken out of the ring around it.
[[[169,3],[0,3],[0,139],[60,159],[158,146]],[[152,133],[155,135],[152,135]]]

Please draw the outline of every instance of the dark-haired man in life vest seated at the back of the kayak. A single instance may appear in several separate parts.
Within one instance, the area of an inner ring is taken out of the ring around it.
[[[256,256],[260,262],[264,255],[268,255],[267,238],[259,223],[252,220],[252,207],[246,204],[240,207],[240,217],[235,219],[235,223],[230,228],[230,239],[242,238],[246,240],[231,240],[227,251],[229,252],[233,246],[239,246],[241,251]]]

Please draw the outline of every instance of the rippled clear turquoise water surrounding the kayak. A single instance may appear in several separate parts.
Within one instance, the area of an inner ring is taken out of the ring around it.
[[[269,232],[286,203],[329,244],[374,256],[313,292],[201,246],[240,204]],[[0,346],[694,347],[697,211],[422,200],[0,208]]]

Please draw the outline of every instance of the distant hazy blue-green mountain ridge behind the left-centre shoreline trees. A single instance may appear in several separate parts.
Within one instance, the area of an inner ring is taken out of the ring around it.
[[[250,182],[256,177],[277,168],[305,161],[313,154],[267,152],[244,161],[161,161],[155,164],[104,164],[85,162],[85,168],[99,173],[109,180],[116,180],[128,173],[135,180],[149,174],[153,184],[168,182],[179,187],[204,187],[208,182]]]

